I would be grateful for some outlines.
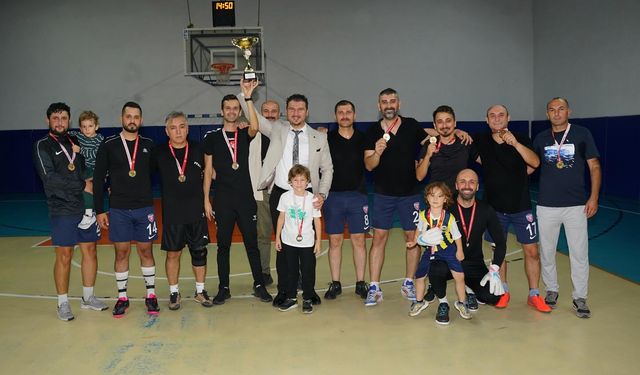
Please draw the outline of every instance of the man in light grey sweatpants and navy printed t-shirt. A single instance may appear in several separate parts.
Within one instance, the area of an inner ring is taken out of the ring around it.
[[[538,133],[533,148],[540,156],[540,194],[537,213],[540,218],[540,261],[542,280],[547,287],[545,302],[555,308],[558,301],[556,245],[560,226],[564,226],[569,245],[573,309],[579,318],[591,317],[587,305],[589,288],[589,235],[587,219],[598,212],[598,194],[602,183],[600,154],[591,132],[569,123],[571,109],[564,98],[547,103],[551,129]],[[586,195],[585,167],[589,170],[591,190]]]

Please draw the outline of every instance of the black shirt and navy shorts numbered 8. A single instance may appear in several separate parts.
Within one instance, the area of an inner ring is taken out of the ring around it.
[[[350,233],[365,233],[369,230],[369,205],[364,177],[364,134],[353,130],[346,139],[338,131],[327,135],[333,162],[333,180],[330,194],[324,202],[325,231],[341,234],[345,222]]]

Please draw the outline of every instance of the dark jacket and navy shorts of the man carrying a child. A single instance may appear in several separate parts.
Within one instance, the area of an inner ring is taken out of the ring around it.
[[[100,238],[96,223],[87,229],[78,228],[84,212],[84,157],[73,153],[73,144],[77,139],[68,134],[48,134],[33,146],[33,163],[47,198],[54,246],[73,247]]]

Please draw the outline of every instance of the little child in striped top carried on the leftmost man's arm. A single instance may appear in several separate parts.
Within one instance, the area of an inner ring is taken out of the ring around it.
[[[93,169],[96,166],[96,153],[98,152],[98,147],[102,143],[102,140],[104,140],[102,134],[97,133],[99,127],[98,120],[98,115],[92,111],[84,111],[78,118],[80,131],[69,132],[69,134],[78,138],[78,143],[80,143],[80,146],[74,145],[74,151],[79,152],[84,156],[85,173],[83,177],[87,182],[87,185],[93,181]],[[78,224],[78,228],[87,229],[96,221],[96,215],[93,212],[93,194],[85,191],[82,197],[84,199],[85,210],[82,221]]]

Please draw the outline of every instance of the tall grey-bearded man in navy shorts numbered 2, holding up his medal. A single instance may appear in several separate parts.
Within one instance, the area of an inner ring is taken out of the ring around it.
[[[413,240],[420,210],[415,155],[427,136],[415,119],[398,114],[400,98],[396,90],[388,88],[380,92],[378,109],[382,118],[367,130],[364,150],[365,167],[374,172],[375,179],[373,242],[369,253],[371,283],[365,306],[375,306],[383,299],[380,275],[394,212],[400,217],[405,242]],[[416,298],[413,277],[419,257],[418,246],[406,249],[406,273],[400,291],[410,300]]]

